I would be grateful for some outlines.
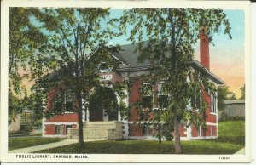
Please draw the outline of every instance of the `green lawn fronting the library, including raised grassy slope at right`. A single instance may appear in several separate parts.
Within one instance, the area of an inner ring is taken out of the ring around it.
[[[244,147],[244,122],[219,122],[218,139],[182,141],[183,154],[233,154]],[[174,142],[164,141],[94,141],[54,149],[37,151],[38,153],[105,153],[105,154],[174,154]]]

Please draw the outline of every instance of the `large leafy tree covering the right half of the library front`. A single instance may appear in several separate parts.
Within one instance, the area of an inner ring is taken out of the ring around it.
[[[209,43],[213,43],[212,35],[223,29],[231,38],[229,20],[219,9],[129,9],[125,10],[121,23],[133,25],[129,40],[139,42],[138,61],[148,60],[153,65],[147,81],[163,81],[168,98],[162,120],[173,121],[175,150],[181,153],[180,123],[203,125],[206,103],[201,95],[214,89],[200,70],[191,70],[192,45],[197,42],[199,31],[207,36]],[[192,108],[200,111],[188,111],[189,100]]]

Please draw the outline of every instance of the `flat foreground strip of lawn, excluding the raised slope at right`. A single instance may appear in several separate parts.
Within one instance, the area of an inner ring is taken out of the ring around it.
[[[183,141],[183,154],[233,154],[243,145],[229,143],[213,143],[212,141]],[[37,153],[90,153],[90,154],[174,154],[174,143],[158,141],[125,140],[125,141],[93,141],[66,145],[54,149],[37,151]]]

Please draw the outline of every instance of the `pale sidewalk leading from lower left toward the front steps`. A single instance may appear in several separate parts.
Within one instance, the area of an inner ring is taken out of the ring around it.
[[[98,139],[85,139],[84,142],[96,141],[96,140],[98,140]],[[51,148],[55,148],[55,147],[59,147],[59,146],[71,145],[74,143],[78,143],[78,139],[64,139],[62,141],[58,141],[55,143],[49,143],[46,145],[36,145],[36,146],[27,147],[27,148],[12,150],[12,151],[9,151],[9,153],[31,153],[31,152],[47,150],[47,149],[51,149]]]

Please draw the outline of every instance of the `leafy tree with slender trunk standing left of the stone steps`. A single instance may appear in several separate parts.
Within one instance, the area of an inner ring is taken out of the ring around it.
[[[49,39],[47,47],[39,49],[41,61],[32,65],[54,70],[49,77],[42,77],[44,87],[64,86],[70,89],[76,100],[73,111],[78,113],[79,147],[84,146],[82,111],[83,104],[90,98],[90,88],[100,83],[97,72],[108,67],[115,68],[118,63],[111,54],[119,47],[108,45],[108,40],[119,33],[113,33],[109,26],[109,9],[41,9],[38,21]],[[107,25],[107,26],[106,26]],[[104,60],[104,61],[102,61]],[[110,65],[111,64],[111,65]],[[35,70],[34,75],[41,71]],[[55,83],[55,85],[49,85]]]

